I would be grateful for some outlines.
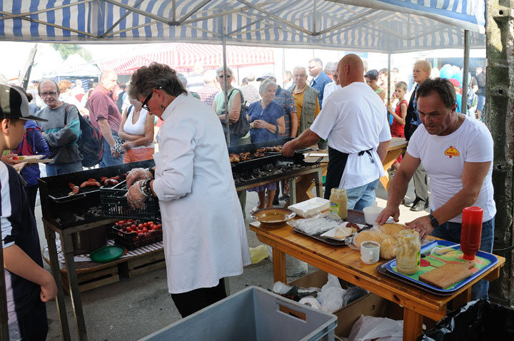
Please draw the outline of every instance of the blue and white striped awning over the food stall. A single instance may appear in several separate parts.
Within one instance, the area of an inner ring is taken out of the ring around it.
[[[484,0],[0,0],[0,40],[404,52],[485,46]]]

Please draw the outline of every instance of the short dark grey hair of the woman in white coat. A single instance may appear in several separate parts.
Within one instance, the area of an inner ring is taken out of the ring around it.
[[[151,63],[141,66],[131,77],[129,97],[138,99],[138,96],[146,97],[154,89],[160,88],[171,96],[187,94],[186,88],[173,68],[165,64]]]

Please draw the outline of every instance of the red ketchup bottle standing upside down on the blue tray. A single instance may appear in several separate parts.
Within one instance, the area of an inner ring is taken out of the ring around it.
[[[483,209],[472,206],[463,209],[463,225],[460,230],[460,250],[465,260],[474,260],[480,248]]]

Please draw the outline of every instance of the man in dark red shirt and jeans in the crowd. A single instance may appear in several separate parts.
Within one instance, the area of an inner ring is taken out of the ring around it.
[[[104,70],[99,81],[89,96],[89,120],[92,126],[100,129],[104,141],[104,156],[99,167],[121,165],[123,154],[114,150],[121,123],[121,114],[113,98],[118,75],[113,70]]]

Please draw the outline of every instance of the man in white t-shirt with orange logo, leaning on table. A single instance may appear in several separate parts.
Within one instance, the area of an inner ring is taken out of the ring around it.
[[[432,213],[406,223],[421,238],[433,235],[460,243],[462,211],[483,208],[480,250],[492,252],[496,206],[493,199],[493,138],[480,121],[456,113],[455,88],[445,78],[423,81],[417,91],[421,123],[389,187],[388,203],[377,223],[398,221],[398,205],[421,164],[430,178]],[[488,282],[473,285],[471,299],[488,297]]]

